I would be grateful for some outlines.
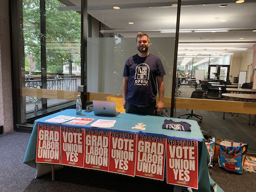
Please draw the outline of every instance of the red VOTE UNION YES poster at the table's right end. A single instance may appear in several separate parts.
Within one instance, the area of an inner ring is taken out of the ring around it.
[[[198,141],[167,139],[167,183],[198,189]]]

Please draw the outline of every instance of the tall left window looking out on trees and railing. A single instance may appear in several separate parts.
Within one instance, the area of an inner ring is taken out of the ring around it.
[[[23,123],[49,108],[74,104],[60,94],[76,91],[80,84],[81,14],[80,7],[69,8],[58,0],[15,3],[19,10],[19,32],[14,32],[19,38],[16,86],[21,91],[17,108],[23,111],[18,120]]]

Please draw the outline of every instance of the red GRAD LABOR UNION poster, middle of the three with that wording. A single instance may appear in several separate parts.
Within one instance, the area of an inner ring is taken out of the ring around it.
[[[108,131],[86,129],[84,168],[108,170]]]

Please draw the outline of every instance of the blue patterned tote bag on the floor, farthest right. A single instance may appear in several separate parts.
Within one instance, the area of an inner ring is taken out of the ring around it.
[[[219,166],[233,173],[243,172],[248,143],[223,140],[220,142]]]

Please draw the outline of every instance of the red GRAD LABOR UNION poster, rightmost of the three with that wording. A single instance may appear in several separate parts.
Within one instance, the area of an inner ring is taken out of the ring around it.
[[[138,135],[136,176],[163,181],[166,138]]]

